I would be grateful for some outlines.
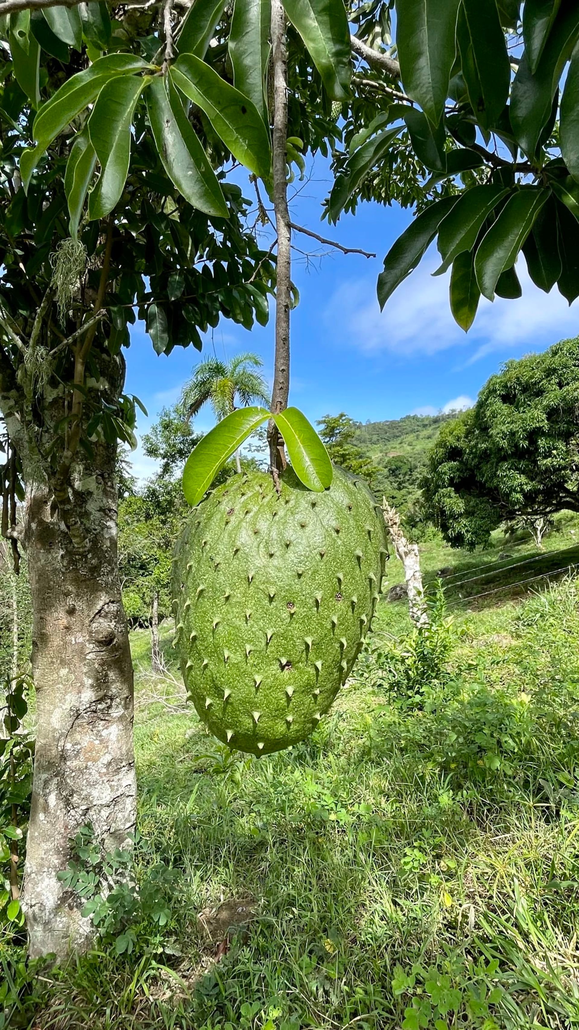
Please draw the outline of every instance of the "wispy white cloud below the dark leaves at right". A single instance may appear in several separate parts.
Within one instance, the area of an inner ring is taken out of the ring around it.
[[[436,267],[434,255],[423,262],[382,312],[374,280],[340,284],[326,312],[328,324],[334,331],[341,327],[342,342],[366,353],[388,351],[416,357],[468,346],[468,364],[497,350],[543,349],[577,333],[577,309],[569,307],[556,287],[550,294],[537,289],[521,260],[517,274],[522,297],[516,301],[497,298],[492,304],[482,298],[474,324],[465,334],[450,313],[449,275],[433,277]]]

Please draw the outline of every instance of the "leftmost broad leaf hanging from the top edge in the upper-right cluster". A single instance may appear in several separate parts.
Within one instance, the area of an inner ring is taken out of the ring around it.
[[[398,0],[397,44],[405,92],[433,125],[442,117],[455,56],[459,0]]]

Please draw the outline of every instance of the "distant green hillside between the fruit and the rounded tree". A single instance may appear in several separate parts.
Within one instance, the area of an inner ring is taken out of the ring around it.
[[[427,455],[443,422],[456,415],[405,415],[383,422],[359,423],[353,443],[372,458],[379,472],[373,477],[378,495],[384,493],[408,515],[418,495]]]

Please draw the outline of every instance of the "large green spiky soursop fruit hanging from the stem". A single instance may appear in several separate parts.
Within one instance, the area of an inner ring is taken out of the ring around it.
[[[312,493],[287,469],[234,476],[202,501],[173,564],[176,647],[204,723],[265,755],[303,740],[348,676],[378,600],[384,522],[335,469]]]

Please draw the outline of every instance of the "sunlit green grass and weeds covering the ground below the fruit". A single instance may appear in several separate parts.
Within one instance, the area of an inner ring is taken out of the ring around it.
[[[423,553],[428,575],[449,564],[437,542]],[[377,639],[407,632],[406,612],[380,606]],[[261,760],[230,754],[184,705],[170,630],[162,677],[133,632],[137,874],[175,870],[170,918],[138,926],[130,957],[101,948],[45,972],[20,1025],[577,1026],[579,587],[454,619],[448,667],[424,671],[418,703],[362,663],[312,737]]]

